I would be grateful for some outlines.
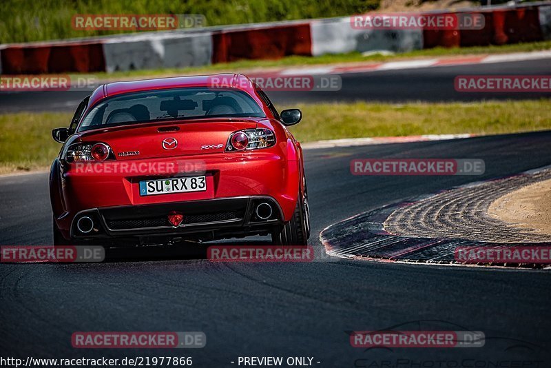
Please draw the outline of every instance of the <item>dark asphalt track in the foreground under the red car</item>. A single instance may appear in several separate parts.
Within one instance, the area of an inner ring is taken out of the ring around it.
[[[349,161],[368,157],[477,158],[486,161],[486,173],[351,175]],[[305,159],[311,245],[321,247],[324,227],[360,212],[549,165],[551,131],[307,150]],[[0,244],[50,243],[51,216],[47,174],[0,178]],[[3,356],[35,358],[192,356],[197,367],[237,367],[231,362],[238,356],[311,356],[317,367],[385,367],[397,359],[403,365],[386,367],[515,367],[489,365],[513,360],[525,362],[521,367],[549,367],[550,287],[545,271],[337,258],[211,263],[156,259],[154,249],[138,260],[110,263],[3,264],[0,346]],[[395,326],[483,331],[486,341],[465,349],[351,347],[350,331]],[[74,331],[204,331],[207,346],[79,350],[71,347]],[[437,365],[441,360],[468,362]]]

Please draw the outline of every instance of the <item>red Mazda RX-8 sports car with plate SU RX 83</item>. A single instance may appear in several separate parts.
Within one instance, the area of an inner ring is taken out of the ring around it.
[[[300,119],[240,74],[101,85],[52,131],[54,244],[306,244]]]

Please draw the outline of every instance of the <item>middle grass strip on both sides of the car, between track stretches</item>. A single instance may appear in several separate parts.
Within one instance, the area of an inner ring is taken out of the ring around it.
[[[289,107],[289,106],[288,106]],[[322,103],[298,104],[304,119],[291,127],[305,143],[325,139],[420,134],[504,134],[551,129],[550,101],[484,103]],[[283,107],[281,107],[283,108]],[[0,173],[47,168],[61,145],[54,127],[70,113],[0,115]]]

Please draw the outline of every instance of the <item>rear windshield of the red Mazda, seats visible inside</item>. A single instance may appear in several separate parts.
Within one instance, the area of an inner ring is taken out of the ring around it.
[[[265,116],[242,91],[178,88],[123,94],[98,103],[83,119],[79,132],[151,121]]]

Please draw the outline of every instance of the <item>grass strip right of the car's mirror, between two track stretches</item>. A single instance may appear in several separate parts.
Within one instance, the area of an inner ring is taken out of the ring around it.
[[[304,119],[291,130],[301,142],[366,136],[504,134],[551,129],[551,101],[482,103],[298,104]]]

